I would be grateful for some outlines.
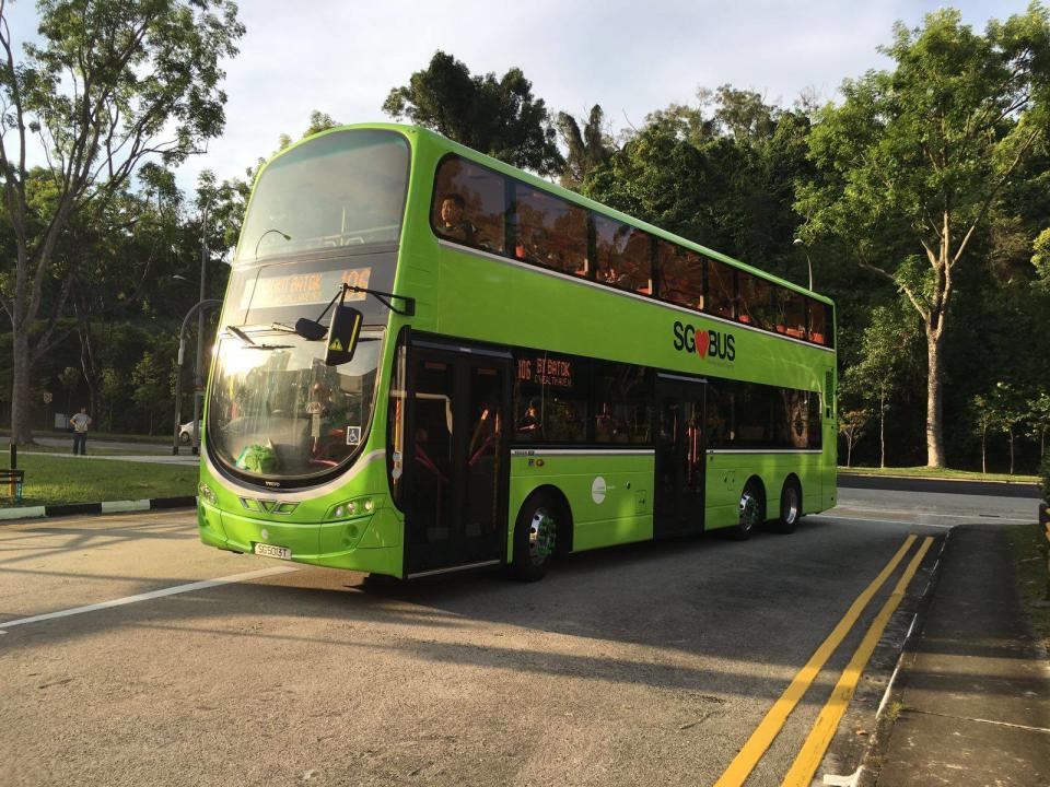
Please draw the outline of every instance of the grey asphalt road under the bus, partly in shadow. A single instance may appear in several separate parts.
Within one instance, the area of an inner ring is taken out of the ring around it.
[[[714,784],[908,535],[1035,519],[1017,498],[840,502],[792,536],[587,553],[534,585],[233,555],[190,512],[0,527],[0,785]],[[936,551],[825,772],[871,729]],[[891,585],[748,785],[781,784]]]

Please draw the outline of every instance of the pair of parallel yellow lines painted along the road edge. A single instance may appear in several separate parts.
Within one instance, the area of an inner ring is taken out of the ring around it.
[[[806,690],[813,681],[816,680],[828,658],[831,657],[831,654],[833,654],[836,648],[842,643],[845,635],[850,633],[853,624],[856,623],[856,620],[861,616],[861,613],[867,607],[872,597],[886,584],[886,580],[889,579],[897,569],[897,566],[905,559],[905,555],[908,554],[908,551],[914,542],[914,536],[909,536],[905,539],[905,543],[897,550],[897,554],[890,559],[889,563],[879,572],[872,584],[856,597],[856,600],[852,603],[842,620],[839,621],[835,630],[828,635],[827,639],[814,651],[809,660],[806,661],[806,665],[798,671],[794,680],[792,680],[791,685],[789,685],[788,689],[784,690],[784,693],[780,695],[780,698],[773,703],[773,706],[769,709],[769,713],[766,714],[761,724],[758,725],[751,733],[751,737],[747,739],[747,743],[744,744],[744,748],[740,749],[733,762],[730,763],[725,773],[714,783],[714,787],[739,787],[744,784],[744,780],[783,728],[788,716],[794,710],[795,705],[802,700],[803,694],[806,693]],[[831,692],[831,697],[817,717],[817,723],[806,738],[806,742],[803,743],[802,750],[798,752],[791,770],[788,772],[782,787],[808,787],[813,782],[813,776],[817,772],[817,767],[820,765],[820,761],[824,759],[828,745],[831,743],[835,730],[838,728],[839,721],[845,713],[847,706],[850,704],[858,681],[861,679],[861,674],[864,672],[864,668],[867,666],[867,661],[872,657],[872,653],[875,650],[875,646],[878,644],[886,629],[886,624],[903,599],[908,585],[914,577],[915,572],[919,571],[919,566],[932,543],[932,537],[926,537],[923,540],[919,547],[919,551],[915,552],[905,573],[900,579],[897,580],[897,586],[894,588],[894,591],[883,604],[883,609],[878,615],[876,615],[875,620],[872,621],[872,625],[868,626],[864,639],[861,642],[860,647],[858,647],[856,653],[853,654],[853,658],[850,659],[850,663],[847,665],[842,677]]]

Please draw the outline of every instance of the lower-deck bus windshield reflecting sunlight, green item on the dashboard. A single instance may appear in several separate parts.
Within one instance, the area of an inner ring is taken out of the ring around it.
[[[324,342],[273,330],[220,330],[208,445],[259,480],[306,480],[348,463],[364,445],[383,332],[361,332],[353,361],[324,364]]]

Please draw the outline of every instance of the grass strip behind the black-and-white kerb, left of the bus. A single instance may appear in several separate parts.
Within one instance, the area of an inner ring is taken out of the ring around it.
[[[21,456],[25,470],[21,506],[103,503],[196,494],[198,470],[187,465],[91,460],[73,456]],[[8,488],[0,507],[13,505]]]

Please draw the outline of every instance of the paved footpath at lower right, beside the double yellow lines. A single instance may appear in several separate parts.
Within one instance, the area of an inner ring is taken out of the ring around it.
[[[875,784],[1050,785],[1050,665],[1022,618],[1006,535],[958,527],[942,560]]]

